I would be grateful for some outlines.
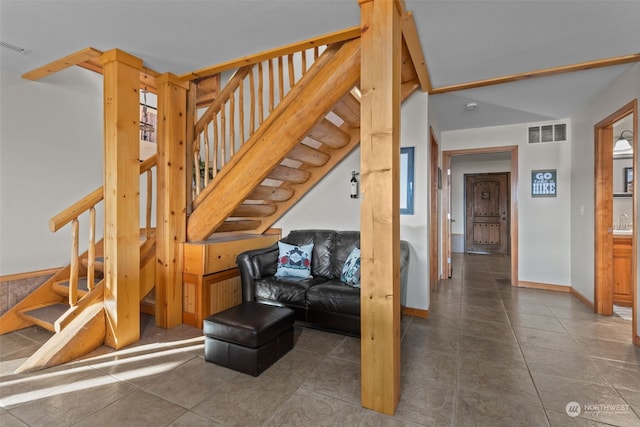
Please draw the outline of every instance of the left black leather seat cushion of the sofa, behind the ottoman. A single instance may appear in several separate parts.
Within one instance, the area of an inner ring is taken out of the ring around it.
[[[295,277],[267,276],[255,281],[255,298],[303,307],[307,289],[325,280],[316,277],[297,279]]]

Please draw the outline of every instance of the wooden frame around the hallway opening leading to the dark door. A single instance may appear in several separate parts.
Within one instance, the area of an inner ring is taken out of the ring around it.
[[[518,286],[518,146],[468,148],[442,152],[442,271],[451,271],[451,157],[465,154],[510,153],[511,154],[511,194],[510,194],[510,245],[511,245],[511,286]],[[449,261],[449,262],[448,262]]]

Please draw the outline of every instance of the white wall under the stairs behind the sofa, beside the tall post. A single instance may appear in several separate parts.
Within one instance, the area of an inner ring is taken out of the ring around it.
[[[402,146],[415,147],[414,215],[400,216],[400,238],[411,245],[407,307],[429,307],[429,138],[428,96],[413,94],[402,106]],[[283,235],[291,230],[327,228],[360,229],[360,199],[349,197],[351,171],[360,171],[360,150],[356,149],[301,199],[274,227]],[[366,197],[366,195],[365,195]]]

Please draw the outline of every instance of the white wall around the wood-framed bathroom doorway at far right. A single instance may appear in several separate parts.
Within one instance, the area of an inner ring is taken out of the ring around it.
[[[573,168],[571,180],[571,283],[593,302],[594,293],[594,125],[626,103],[640,98],[640,64],[636,64],[616,80],[590,104],[572,118],[574,145],[571,151]],[[640,117],[635,118],[640,129]],[[635,148],[638,149],[637,136]],[[640,156],[636,156],[640,159]],[[640,170],[638,163],[635,170]],[[635,198],[640,203],[640,197]],[[635,229],[638,230],[640,206],[635,206]],[[636,240],[637,241],[637,240]],[[640,265],[640,251],[636,251],[636,265]],[[640,307],[640,275],[636,282],[636,307]],[[640,316],[636,319],[640,331]]]

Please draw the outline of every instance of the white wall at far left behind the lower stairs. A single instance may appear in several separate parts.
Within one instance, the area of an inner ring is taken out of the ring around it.
[[[102,77],[3,69],[0,111],[0,275],[66,265],[70,227],[54,234],[48,221],[102,185]]]

